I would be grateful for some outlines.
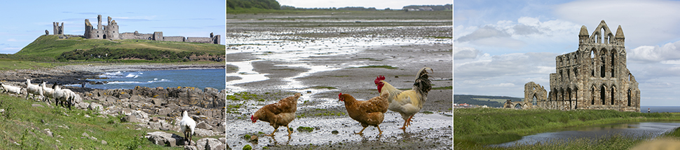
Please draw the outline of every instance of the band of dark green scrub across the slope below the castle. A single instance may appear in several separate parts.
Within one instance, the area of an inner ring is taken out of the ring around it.
[[[155,50],[149,48],[92,48],[90,50],[72,50],[62,53],[57,60],[65,62],[68,60],[150,60],[156,62],[186,62],[198,60],[196,56],[206,55],[205,52],[173,52],[170,50]],[[208,60],[222,61],[218,55],[208,54]],[[205,59],[205,58],[202,58]],[[217,59],[217,60],[215,60]]]

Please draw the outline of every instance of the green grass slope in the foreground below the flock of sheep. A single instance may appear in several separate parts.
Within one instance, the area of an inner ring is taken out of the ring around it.
[[[94,111],[50,108],[43,102],[6,94],[0,94],[0,109],[4,109],[0,113],[0,149],[181,149],[152,144],[142,136],[153,130],[135,130],[138,127],[120,123],[118,117],[97,117],[101,114]],[[46,134],[47,128],[53,137]],[[83,132],[97,140],[81,138]]]

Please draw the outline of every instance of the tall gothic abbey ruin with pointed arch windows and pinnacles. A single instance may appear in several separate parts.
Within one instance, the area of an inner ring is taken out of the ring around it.
[[[620,25],[613,34],[602,20],[590,36],[582,26],[578,50],[555,57],[550,92],[536,83],[526,83],[524,101],[506,102],[506,107],[639,112],[640,90],[626,67],[624,41]]]

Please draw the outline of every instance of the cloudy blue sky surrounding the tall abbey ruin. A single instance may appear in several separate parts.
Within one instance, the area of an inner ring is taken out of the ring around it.
[[[550,91],[555,56],[605,20],[625,35],[641,106],[680,106],[680,1],[454,1],[454,94],[524,97]]]

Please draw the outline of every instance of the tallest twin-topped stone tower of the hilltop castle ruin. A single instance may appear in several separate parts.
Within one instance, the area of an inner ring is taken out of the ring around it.
[[[118,38],[118,23],[108,17],[107,25],[102,25],[102,15],[97,15],[97,28],[90,24],[90,20],[85,19],[86,39],[120,39]]]

